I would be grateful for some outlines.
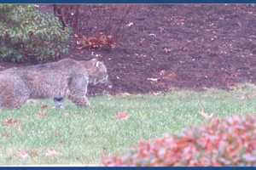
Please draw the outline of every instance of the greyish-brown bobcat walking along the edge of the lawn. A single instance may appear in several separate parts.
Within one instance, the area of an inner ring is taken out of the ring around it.
[[[88,84],[108,82],[108,71],[97,59],[57,62],[0,71],[0,109],[15,109],[27,99],[54,99],[60,108],[65,98],[78,106],[90,105]]]

